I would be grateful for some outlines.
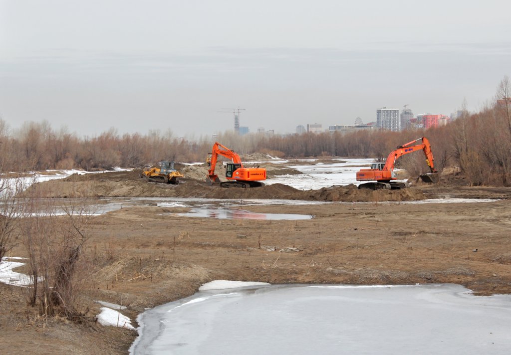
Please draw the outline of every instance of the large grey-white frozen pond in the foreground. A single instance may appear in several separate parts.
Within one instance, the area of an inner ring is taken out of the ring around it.
[[[144,312],[131,354],[507,354],[511,296],[457,285],[199,291]]]

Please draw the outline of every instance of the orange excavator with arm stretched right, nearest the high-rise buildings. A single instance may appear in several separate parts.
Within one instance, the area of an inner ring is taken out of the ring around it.
[[[417,143],[422,141],[421,144]],[[390,152],[385,160],[385,163],[377,162],[372,163],[370,169],[361,169],[357,172],[357,181],[373,181],[360,184],[358,188],[370,188],[371,190],[380,190],[387,188],[391,190],[399,190],[405,188],[406,184],[403,182],[391,181],[397,180],[396,174],[394,174],[394,165],[396,160],[402,155],[413,153],[417,150],[422,150],[426,155],[426,163],[428,164],[430,173],[419,175],[419,177],[425,182],[437,182],[438,172],[435,170],[433,165],[433,153],[431,151],[431,145],[426,137],[412,140],[402,146],[399,146],[396,150]]]

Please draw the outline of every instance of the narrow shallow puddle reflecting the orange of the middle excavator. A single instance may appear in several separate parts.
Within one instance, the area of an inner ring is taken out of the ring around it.
[[[217,219],[246,219],[246,220],[311,220],[311,215],[296,214],[275,214],[258,213],[244,209],[225,209],[225,208],[192,208],[189,212],[172,214],[174,216],[199,217],[199,218],[217,218]]]

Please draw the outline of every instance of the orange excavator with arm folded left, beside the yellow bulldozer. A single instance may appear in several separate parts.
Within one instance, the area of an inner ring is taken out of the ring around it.
[[[245,168],[240,156],[220,143],[215,142],[211,150],[211,158],[208,156],[210,169],[207,172],[206,182],[210,184],[219,183],[222,187],[259,187],[264,184],[260,181],[266,180],[266,169],[258,167]],[[218,156],[231,159],[231,163],[225,164],[225,177],[229,181],[220,182],[215,174],[215,167]]]

